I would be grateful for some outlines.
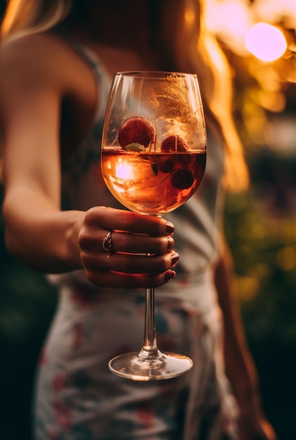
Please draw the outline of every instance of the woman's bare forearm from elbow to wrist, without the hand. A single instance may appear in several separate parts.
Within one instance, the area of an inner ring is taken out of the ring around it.
[[[8,250],[25,264],[46,273],[82,268],[77,235],[84,212],[61,212],[43,194],[15,188],[3,215]]]

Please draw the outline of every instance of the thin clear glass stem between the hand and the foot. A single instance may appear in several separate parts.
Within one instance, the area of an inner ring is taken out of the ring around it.
[[[154,317],[154,289],[150,288],[146,289],[144,344],[142,351],[148,351],[148,354],[157,353]]]

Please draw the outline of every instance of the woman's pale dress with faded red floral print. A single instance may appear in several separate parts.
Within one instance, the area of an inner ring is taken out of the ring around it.
[[[63,164],[63,209],[120,207],[103,183],[99,164],[110,78],[93,54],[72,44],[96,73],[100,101],[94,126]],[[83,271],[50,276],[60,286],[60,300],[39,363],[36,440],[237,439],[212,271],[223,152],[218,142],[208,140],[200,188],[165,216],[175,226],[180,259],[174,280],[155,292],[158,346],[190,356],[193,368],[181,377],[152,382],[113,375],[110,358],[137,351],[143,342],[144,292],[98,289]]]

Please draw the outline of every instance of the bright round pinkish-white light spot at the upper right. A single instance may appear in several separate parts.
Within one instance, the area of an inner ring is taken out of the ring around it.
[[[277,27],[260,22],[247,32],[245,46],[259,60],[269,62],[277,60],[285,53],[287,41]]]

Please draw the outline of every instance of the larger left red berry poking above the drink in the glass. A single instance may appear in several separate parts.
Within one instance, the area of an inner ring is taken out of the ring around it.
[[[154,141],[153,125],[144,117],[130,117],[120,127],[118,140],[122,148],[131,143],[139,143],[147,148]]]

